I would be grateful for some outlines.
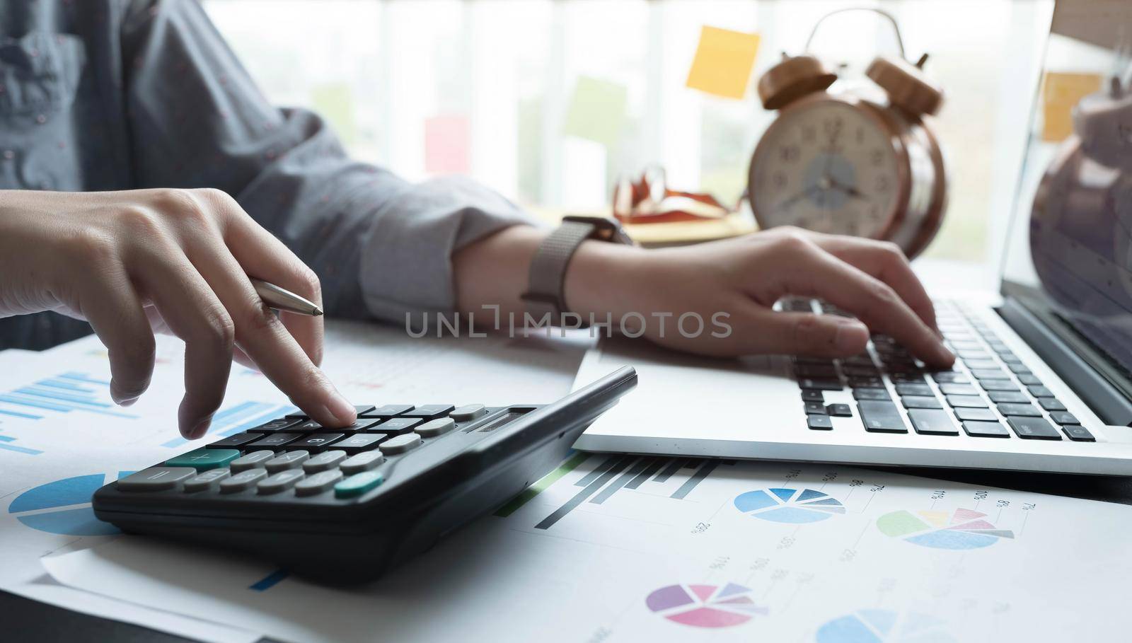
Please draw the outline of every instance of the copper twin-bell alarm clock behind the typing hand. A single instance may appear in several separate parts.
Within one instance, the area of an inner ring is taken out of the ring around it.
[[[763,75],[758,96],[779,114],[751,157],[747,198],[761,228],[883,239],[909,257],[927,247],[947,180],[926,121],[943,91],[923,72],[926,59],[877,57],[866,70],[872,86],[840,91],[813,55],[783,54]]]

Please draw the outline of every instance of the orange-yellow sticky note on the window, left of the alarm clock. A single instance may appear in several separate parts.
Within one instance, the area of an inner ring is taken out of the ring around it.
[[[747,93],[756,53],[758,34],[704,26],[687,86],[724,98],[741,98]]]

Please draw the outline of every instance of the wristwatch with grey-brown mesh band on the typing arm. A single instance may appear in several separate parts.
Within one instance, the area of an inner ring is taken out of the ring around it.
[[[634,246],[616,218],[603,216],[565,216],[561,225],[542,240],[531,259],[526,292],[522,299],[526,311],[535,319],[548,312],[557,319],[566,312],[566,267],[582,241],[595,239],[611,243]]]

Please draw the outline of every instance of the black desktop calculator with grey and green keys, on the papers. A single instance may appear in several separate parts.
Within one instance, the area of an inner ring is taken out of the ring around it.
[[[288,415],[106,485],[94,513],[321,582],[370,581],[552,471],[636,377],[625,367],[547,405],[361,405],[346,428]]]

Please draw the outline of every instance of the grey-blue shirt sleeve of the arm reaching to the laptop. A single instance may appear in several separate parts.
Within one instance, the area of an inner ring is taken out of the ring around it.
[[[532,223],[471,180],[351,161],[318,115],[266,101],[194,0],[134,2],[121,42],[137,187],[229,192],[319,275],[332,315],[449,311],[452,254]]]

